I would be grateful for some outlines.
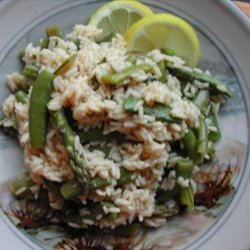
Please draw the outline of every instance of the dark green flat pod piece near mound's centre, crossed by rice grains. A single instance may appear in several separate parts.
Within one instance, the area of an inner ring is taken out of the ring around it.
[[[129,96],[123,101],[123,108],[126,112],[130,114],[137,114],[137,111],[134,111],[135,105],[139,102],[139,99],[134,96]],[[171,116],[171,108],[164,104],[155,104],[153,107],[143,106],[144,113],[146,115],[151,115],[156,118],[156,120],[170,123],[181,123],[181,120],[173,118]]]

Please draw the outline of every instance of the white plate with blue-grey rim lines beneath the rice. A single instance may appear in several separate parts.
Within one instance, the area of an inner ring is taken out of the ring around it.
[[[38,43],[48,25],[59,24],[67,33],[73,24],[86,23],[91,13],[105,2],[1,1],[0,102],[8,95],[6,75],[20,69],[17,55],[21,48],[30,42]],[[155,12],[171,12],[192,24],[201,41],[199,66],[209,69],[233,91],[234,97],[220,112],[223,139],[217,145],[217,164],[231,166],[237,173],[232,180],[235,191],[220,199],[220,205],[215,209],[205,214],[195,213],[170,219],[165,227],[144,235],[143,239],[133,239],[129,244],[131,248],[137,245],[143,249],[249,249],[249,21],[231,2],[142,2]],[[83,247],[86,238],[76,240],[78,243],[63,241],[65,236],[54,227],[24,231],[15,226],[14,216],[8,213],[9,201],[12,201],[8,180],[13,178],[22,166],[22,151],[14,140],[1,131],[0,249],[51,249],[70,244],[75,244],[78,248]],[[7,214],[4,211],[7,211]],[[95,236],[95,239],[99,236]]]

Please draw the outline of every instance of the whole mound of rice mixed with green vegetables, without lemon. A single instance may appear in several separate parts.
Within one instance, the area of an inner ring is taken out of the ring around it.
[[[229,92],[170,50],[131,53],[122,35],[98,41],[101,34],[77,24],[46,46],[30,43],[24,71],[7,75],[12,94],[1,125],[17,131],[27,168],[12,192],[46,192],[73,228],[159,227],[182,207],[194,209],[193,174],[214,159],[217,113]],[[31,137],[42,111],[31,104],[43,72],[53,79],[37,146]],[[66,209],[68,202],[75,205]]]

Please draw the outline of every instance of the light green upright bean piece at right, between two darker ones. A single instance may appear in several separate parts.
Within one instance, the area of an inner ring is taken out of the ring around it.
[[[206,154],[208,150],[208,129],[206,120],[200,118],[199,128],[198,128],[198,140],[197,140],[197,153]]]

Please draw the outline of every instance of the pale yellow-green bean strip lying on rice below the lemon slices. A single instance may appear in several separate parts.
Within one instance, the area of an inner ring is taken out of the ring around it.
[[[145,72],[155,73],[154,68],[151,64],[140,64],[128,67],[117,73],[109,73],[102,77],[102,80],[107,84],[120,84],[131,75],[139,70],[144,70]]]

